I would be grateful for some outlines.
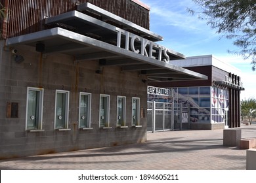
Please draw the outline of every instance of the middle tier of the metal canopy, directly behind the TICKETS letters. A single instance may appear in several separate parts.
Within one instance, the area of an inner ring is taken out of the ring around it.
[[[114,25],[108,24],[106,22],[102,22],[96,18],[88,16],[78,11],[66,12],[64,14],[60,14],[58,16],[53,16],[47,18],[45,20],[45,24],[51,27],[62,27],[64,29],[68,29],[75,33],[79,33],[81,35],[85,35],[94,39],[97,39],[102,42],[107,42],[109,44],[117,45],[117,32],[123,32],[124,29],[120,29]],[[127,33],[127,32],[126,32]],[[134,35],[133,33],[129,33],[129,35]],[[137,37],[140,35],[144,35],[144,32],[141,30]],[[149,38],[152,36],[148,36]],[[141,37],[142,38],[142,37]],[[121,36],[121,47],[125,48],[126,37],[124,35]],[[146,38],[143,38],[145,40]],[[135,48],[139,48],[141,46],[141,42],[138,42],[135,39]],[[148,48],[149,49],[149,48]],[[170,59],[184,59],[185,56],[180,54],[179,52],[175,52],[169,49]]]

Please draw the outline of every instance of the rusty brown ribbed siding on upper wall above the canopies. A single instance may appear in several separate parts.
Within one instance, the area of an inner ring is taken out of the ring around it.
[[[149,29],[149,11],[131,0],[0,0],[9,9],[1,22],[3,38],[10,38],[44,29],[45,17],[75,10],[77,4],[92,3],[141,27]]]

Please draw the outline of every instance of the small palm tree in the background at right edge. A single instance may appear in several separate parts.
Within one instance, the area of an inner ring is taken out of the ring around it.
[[[241,115],[247,117],[251,124],[253,118],[256,117],[256,99],[244,99],[241,101]]]

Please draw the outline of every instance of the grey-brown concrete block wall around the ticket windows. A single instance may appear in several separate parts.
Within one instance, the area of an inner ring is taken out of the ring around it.
[[[140,98],[146,110],[147,95],[144,76],[137,72],[121,72],[119,67],[98,66],[98,61],[76,62],[65,54],[41,55],[30,46],[17,46],[22,63],[15,63],[10,48],[0,43],[0,159],[32,156],[115,146],[146,141],[146,116],[140,116],[142,127],[131,126],[132,97]],[[101,69],[101,73],[95,73]],[[43,129],[26,131],[26,97],[28,87],[43,87]],[[70,91],[70,131],[54,129],[55,91]],[[91,127],[78,127],[79,92],[92,93]],[[99,128],[100,94],[110,95],[110,126]],[[117,95],[126,96],[127,128],[116,127]],[[18,103],[18,118],[7,118],[7,102]]]

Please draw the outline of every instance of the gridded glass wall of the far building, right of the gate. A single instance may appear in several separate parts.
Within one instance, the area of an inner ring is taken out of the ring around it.
[[[190,123],[225,122],[225,112],[228,111],[228,90],[211,86],[173,88],[173,90],[177,114],[179,110],[188,110]]]

